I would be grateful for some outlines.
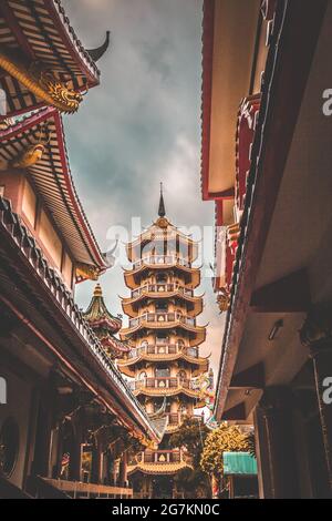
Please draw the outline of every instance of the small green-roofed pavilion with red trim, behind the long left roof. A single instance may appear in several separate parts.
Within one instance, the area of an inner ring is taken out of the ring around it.
[[[122,327],[122,319],[120,316],[114,317],[108,311],[100,284],[96,285],[90,306],[83,316],[112,359],[122,358],[129,350],[126,343],[115,337]]]

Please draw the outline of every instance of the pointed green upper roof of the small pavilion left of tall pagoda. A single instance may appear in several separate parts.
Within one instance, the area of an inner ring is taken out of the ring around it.
[[[103,290],[100,284],[96,285],[90,306],[83,313],[85,320],[90,323],[93,328],[102,327],[111,333],[117,333],[121,329],[122,320],[114,317],[107,309]],[[120,340],[117,340],[120,343]]]

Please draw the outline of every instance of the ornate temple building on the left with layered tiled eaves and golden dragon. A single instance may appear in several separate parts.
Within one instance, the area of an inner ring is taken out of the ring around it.
[[[3,0],[0,47],[0,497],[129,498],[127,447],[162,436],[106,350],[118,321],[103,317],[106,346],[74,300],[112,252],[77,196],[62,122],[98,84],[107,39],[86,51],[60,0]]]

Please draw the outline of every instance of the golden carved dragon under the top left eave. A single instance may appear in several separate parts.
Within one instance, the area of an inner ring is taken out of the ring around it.
[[[79,110],[83,100],[82,93],[69,89],[41,63],[33,62],[27,68],[19,60],[0,51],[0,69],[3,69],[37,98],[43,100],[48,105],[56,108],[60,112],[74,113]]]

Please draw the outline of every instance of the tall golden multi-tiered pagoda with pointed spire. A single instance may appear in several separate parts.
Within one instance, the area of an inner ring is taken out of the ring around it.
[[[194,290],[200,270],[193,267],[197,244],[165,217],[160,193],[157,221],[127,245],[133,267],[125,270],[132,294],[123,298],[128,327],[120,336],[132,349],[118,361],[121,371],[133,378],[134,394],[151,417],[166,415],[166,433],[157,450],[146,450],[129,466],[129,477],[143,497],[176,497],[181,493],[175,474],[190,466],[188,454],[170,449],[169,437],[185,418],[197,418],[204,406],[197,377],[208,369],[199,356],[206,328],[196,324],[203,297]]]

